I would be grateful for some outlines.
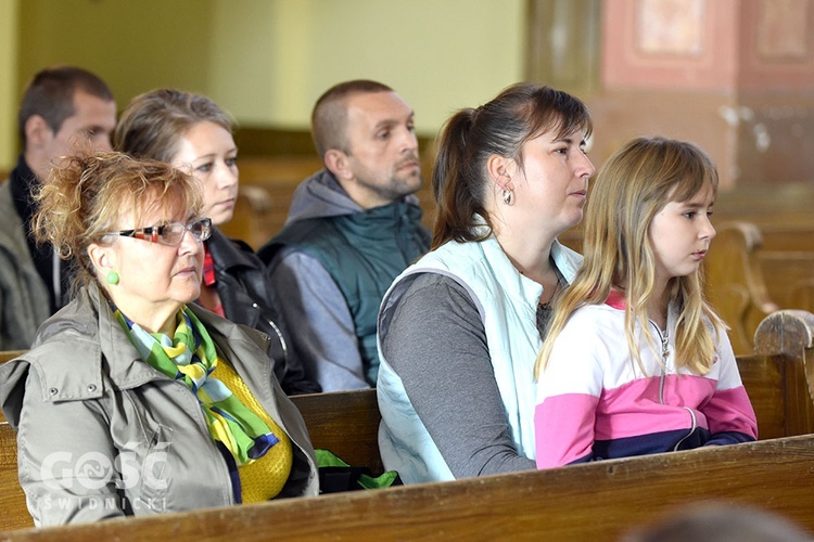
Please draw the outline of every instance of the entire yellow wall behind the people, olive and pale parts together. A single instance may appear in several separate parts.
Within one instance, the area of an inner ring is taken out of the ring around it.
[[[119,108],[179,87],[245,126],[294,129],[307,129],[329,86],[366,77],[394,87],[418,131],[434,136],[453,111],[522,78],[524,0],[0,0],[3,30],[15,29],[3,15],[17,5],[20,65],[0,53],[0,101],[12,115],[21,87],[59,63],[97,72]],[[9,146],[0,140],[0,168]]]

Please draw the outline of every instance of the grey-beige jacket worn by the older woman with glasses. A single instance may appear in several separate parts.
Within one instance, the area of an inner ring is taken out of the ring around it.
[[[291,437],[280,496],[316,495],[314,450],[274,376],[268,337],[190,308]],[[96,284],[42,325],[29,352],[0,367],[0,406],[17,428],[20,482],[35,525],[234,503],[198,399],[140,359]]]

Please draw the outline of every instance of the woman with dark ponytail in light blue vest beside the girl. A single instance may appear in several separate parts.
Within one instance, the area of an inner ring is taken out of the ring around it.
[[[582,219],[590,131],[580,100],[532,83],[447,120],[433,249],[379,313],[379,446],[406,483],[535,468],[534,361],[582,260],[557,236]]]

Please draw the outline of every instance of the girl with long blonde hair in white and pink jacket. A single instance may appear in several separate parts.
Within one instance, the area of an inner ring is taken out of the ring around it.
[[[703,296],[717,183],[701,149],[664,138],[631,141],[600,171],[583,263],[534,369],[539,468],[756,438]]]

